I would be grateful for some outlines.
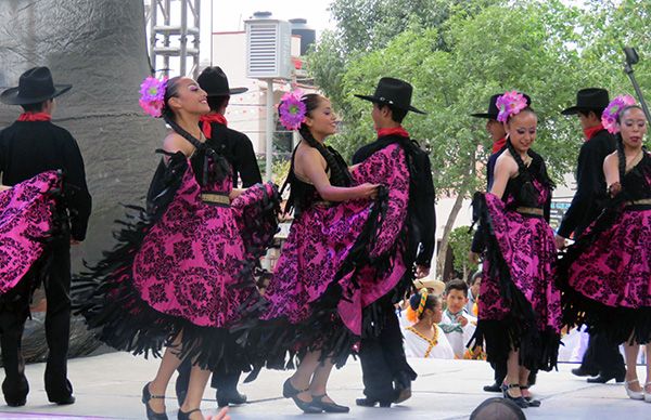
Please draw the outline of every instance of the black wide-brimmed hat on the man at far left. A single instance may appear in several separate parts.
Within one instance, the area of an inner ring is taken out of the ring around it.
[[[18,86],[0,94],[8,105],[38,104],[71,90],[72,84],[54,84],[48,67],[34,67],[21,75]]]

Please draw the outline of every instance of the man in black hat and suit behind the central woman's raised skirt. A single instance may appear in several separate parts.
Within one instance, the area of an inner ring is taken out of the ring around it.
[[[406,247],[404,259],[407,272],[396,286],[396,290],[403,289],[403,292],[405,284],[411,286],[413,264],[416,277],[422,278],[430,273],[436,226],[430,158],[401,126],[408,111],[424,114],[410,105],[411,93],[411,84],[385,77],[380,79],[374,95],[356,95],[373,103],[371,116],[378,131],[378,140],[361,147],[353,157],[353,163],[359,163],[373,153],[395,143],[398,143],[406,154],[410,187],[405,223],[408,224],[407,232],[410,235],[408,241],[413,246]],[[413,254],[409,254],[411,251]],[[411,381],[416,379],[416,372],[407,364],[403,334],[394,310],[394,304],[404,298],[399,294],[401,293],[390,292],[376,302],[381,312],[386,315],[384,325],[380,326],[379,337],[365,338],[362,334],[359,357],[366,397],[356,401],[358,406],[370,407],[380,403],[381,406],[388,407],[392,403],[401,403],[411,396]]]

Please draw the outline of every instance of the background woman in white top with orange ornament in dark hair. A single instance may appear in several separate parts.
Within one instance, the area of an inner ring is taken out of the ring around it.
[[[405,353],[407,357],[455,358],[455,352],[443,329],[437,325],[443,318],[439,298],[421,289],[409,299],[405,328]]]

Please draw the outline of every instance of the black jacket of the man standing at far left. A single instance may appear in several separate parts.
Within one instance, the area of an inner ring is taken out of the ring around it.
[[[0,131],[2,184],[15,185],[49,170],[64,171],[71,236],[84,240],[92,201],[75,139],[50,121],[15,121]]]

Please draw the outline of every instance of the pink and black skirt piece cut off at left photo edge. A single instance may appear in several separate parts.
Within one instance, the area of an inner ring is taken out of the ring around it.
[[[38,275],[29,276],[30,284],[21,280],[43,266],[47,242],[62,226],[61,188],[61,172],[47,171],[0,193],[1,305],[28,300],[38,287]]]

